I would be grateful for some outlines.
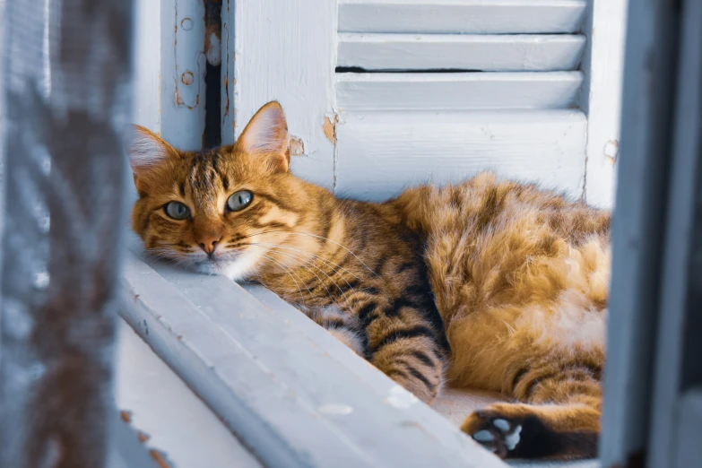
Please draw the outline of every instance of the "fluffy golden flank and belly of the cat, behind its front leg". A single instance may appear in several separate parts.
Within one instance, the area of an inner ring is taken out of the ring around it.
[[[450,381],[508,393],[520,366],[603,361],[608,213],[490,174],[421,190],[397,203],[427,240]]]

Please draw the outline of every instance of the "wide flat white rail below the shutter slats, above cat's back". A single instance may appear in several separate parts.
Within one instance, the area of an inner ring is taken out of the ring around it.
[[[579,110],[342,113],[335,193],[385,200],[420,183],[491,169],[582,195],[585,115]]]

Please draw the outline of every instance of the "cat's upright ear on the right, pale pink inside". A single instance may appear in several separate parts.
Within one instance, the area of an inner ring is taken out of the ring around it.
[[[263,159],[275,172],[286,172],[290,167],[288,150],[288,123],[277,101],[259,108],[238,137],[236,148],[256,159]]]

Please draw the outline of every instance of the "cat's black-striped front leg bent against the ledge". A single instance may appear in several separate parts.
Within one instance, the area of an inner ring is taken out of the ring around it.
[[[377,306],[361,319],[368,324],[368,360],[424,403],[431,403],[444,385],[446,350],[420,309],[395,306],[396,301]]]

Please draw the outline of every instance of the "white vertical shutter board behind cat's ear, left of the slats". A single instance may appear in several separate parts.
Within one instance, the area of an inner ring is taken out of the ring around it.
[[[333,0],[256,0],[235,2],[235,86],[230,86],[230,112],[235,112],[230,143],[256,110],[279,100],[290,134],[301,140],[304,154],[291,168],[302,178],[331,187],[334,143],[323,129],[334,114],[337,7]],[[230,29],[231,34],[231,29]]]

